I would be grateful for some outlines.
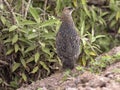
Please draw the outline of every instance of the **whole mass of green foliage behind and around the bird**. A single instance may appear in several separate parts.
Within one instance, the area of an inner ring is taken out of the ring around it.
[[[55,36],[65,6],[81,37],[80,65],[120,43],[119,0],[1,0],[0,86],[18,88],[45,78],[61,66]]]

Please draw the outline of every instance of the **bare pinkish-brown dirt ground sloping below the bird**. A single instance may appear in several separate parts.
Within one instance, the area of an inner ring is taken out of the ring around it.
[[[99,75],[88,71],[65,73],[56,73],[17,90],[120,90],[120,62]]]

